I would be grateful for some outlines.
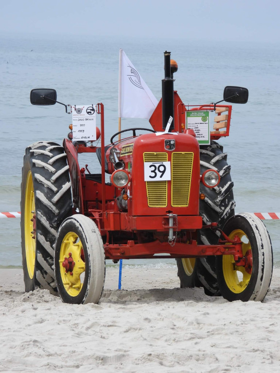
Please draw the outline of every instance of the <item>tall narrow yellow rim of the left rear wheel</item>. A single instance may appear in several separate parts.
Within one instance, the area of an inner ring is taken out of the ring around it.
[[[25,256],[29,277],[32,279],[35,269],[36,242],[33,232],[33,217],[35,215],[35,197],[34,186],[31,171],[27,174],[25,201],[24,201],[24,237],[25,237]]]

